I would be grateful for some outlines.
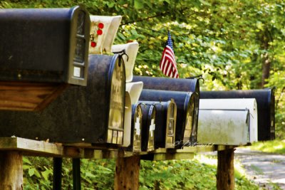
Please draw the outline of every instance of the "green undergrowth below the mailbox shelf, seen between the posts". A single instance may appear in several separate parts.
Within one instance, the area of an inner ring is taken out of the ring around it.
[[[62,189],[72,189],[72,159],[63,159]],[[24,189],[52,189],[51,158],[24,157]],[[214,158],[217,163],[217,157]],[[115,160],[81,159],[81,189],[113,189]],[[217,165],[193,160],[140,162],[140,189],[216,189]],[[236,189],[258,189],[235,171]]]

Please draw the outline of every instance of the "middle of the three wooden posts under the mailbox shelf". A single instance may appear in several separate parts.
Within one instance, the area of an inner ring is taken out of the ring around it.
[[[139,188],[140,156],[118,157],[115,168],[115,190]]]

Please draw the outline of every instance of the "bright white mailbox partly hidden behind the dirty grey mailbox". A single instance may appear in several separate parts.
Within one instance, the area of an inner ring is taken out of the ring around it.
[[[202,110],[249,110],[249,141],[257,142],[257,101],[255,98],[200,99]],[[201,134],[203,135],[203,134]],[[199,134],[198,134],[199,136]]]

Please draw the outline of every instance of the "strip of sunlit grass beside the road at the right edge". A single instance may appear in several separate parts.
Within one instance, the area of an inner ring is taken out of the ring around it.
[[[270,152],[276,154],[285,154],[285,139],[275,139],[266,142],[255,142],[252,146],[247,147],[252,150],[259,150],[262,152]]]

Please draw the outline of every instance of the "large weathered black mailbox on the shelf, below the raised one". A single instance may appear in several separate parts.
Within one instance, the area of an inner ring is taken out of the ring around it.
[[[87,86],[69,86],[41,112],[0,111],[0,137],[123,144],[125,67],[121,60],[118,55],[90,55]]]

